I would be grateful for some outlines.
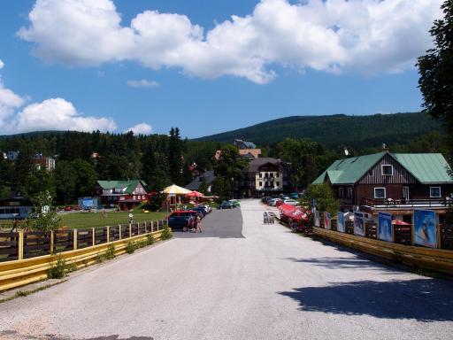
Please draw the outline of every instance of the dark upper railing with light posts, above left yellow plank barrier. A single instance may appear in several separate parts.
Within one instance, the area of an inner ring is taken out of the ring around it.
[[[88,229],[0,232],[0,262],[75,251],[162,230],[165,224],[166,220],[156,220]]]

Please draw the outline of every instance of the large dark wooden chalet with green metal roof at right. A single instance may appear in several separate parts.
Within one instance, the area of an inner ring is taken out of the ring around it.
[[[313,184],[329,183],[343,211],[388,211],[410,222],[414,209],[445,213],[453,193],[449,171],[440,153],[384,151],[338,159]]]

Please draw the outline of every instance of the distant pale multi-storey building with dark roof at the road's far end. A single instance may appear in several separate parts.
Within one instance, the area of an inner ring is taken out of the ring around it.
[[[292,189],[289,164],[276,158],[251,159],[239,186],[241,197],[264,197]]]

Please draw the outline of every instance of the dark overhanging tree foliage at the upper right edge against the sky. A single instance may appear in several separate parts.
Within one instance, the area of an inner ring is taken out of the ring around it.
[[[453,135],[453,0],[441,5],[442,19],[434,21],[430,33],[434,48],[418,58],[419,88],[424,97],[425,111],[434,119],[441,120],[447,133]],[[450,140],[453,152],[453,139]]]

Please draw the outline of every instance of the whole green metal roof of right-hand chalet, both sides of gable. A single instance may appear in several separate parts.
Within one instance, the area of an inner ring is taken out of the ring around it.
[[[333,184],[352,184],[360,180],[386,152],[372,155],[335,160],[313,184],[321,184],[327,179]],[[453,180],[449,176],[450,167],[441,153],[390,153],[420,183],[441,183]]]

